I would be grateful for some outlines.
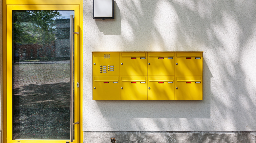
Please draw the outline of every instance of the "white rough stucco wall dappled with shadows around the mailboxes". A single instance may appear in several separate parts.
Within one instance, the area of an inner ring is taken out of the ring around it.
[[[256,131],[255,0],[84,0],[84,131]],[[92,51],[204,51],[203,101],[94,101]]]

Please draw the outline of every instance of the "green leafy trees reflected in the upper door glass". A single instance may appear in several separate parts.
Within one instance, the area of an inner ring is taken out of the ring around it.
[[[13,11],[13,42],[19,53],[14,60],[53,59],[55,19],[60,15],[56,10]]]

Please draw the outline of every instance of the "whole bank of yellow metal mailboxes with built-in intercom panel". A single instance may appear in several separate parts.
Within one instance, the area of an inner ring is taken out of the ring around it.
[[[203,52],[92,52],[93,100],[203,100]]]

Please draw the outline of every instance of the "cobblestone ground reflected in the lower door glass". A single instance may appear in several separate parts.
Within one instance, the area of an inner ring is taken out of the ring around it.
[[[68,139],[69,64],[15,64],[13,73],[13,138]]]

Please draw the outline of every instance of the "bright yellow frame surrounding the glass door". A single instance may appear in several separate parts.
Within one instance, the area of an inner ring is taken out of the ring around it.
[[[79,82],[79,87],[75,87],[75,117],[74,121],[80,123],[75,129],[78,133],[75,136],[75,143],[83,142],[82,131],[82,19],[83,19],[83,1],[82,0],[3,0],[3,143],[41,143],[45,140],[12,140],[12,12],[11,10],[75,10],[79,19],[75,20],[77,26],[75,31],[75,83]],[[10,130],[11,129],[11,130]],[[64,143],[66,140],[54,140],[54,143]]]

